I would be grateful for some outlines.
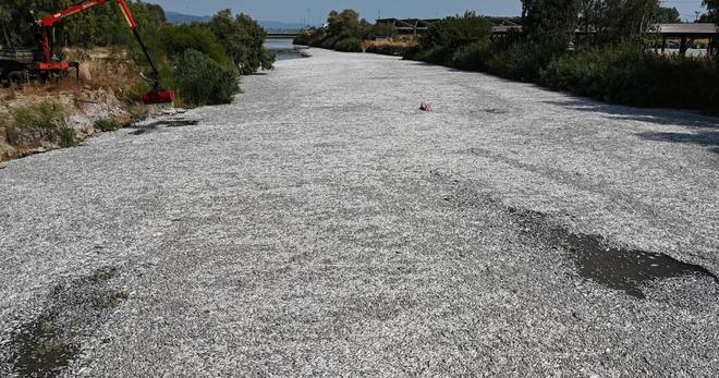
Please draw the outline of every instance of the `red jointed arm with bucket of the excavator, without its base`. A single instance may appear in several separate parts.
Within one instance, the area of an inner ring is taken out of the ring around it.
[[[52,60],[52,48],[50,45],[50,36],[49,36],[49,31],[52,28],[54,25],[58,23],[62,22],[64,19],[72,16],[73,14],[77,14],[87,10],[90,10],[93,8],[102,5],[107,2],[111,2],[113,0],[87,0],[83,1],[81,3],[77,3],[75,5],[72,5],[65,10],[62,10],[57,13],[49,14],[45,16],[44,19],[37,21],[38,25],[40,25],[44,29],[42,33],[42,52],[45,54],[45,62],[46,63],[51,63]],[[149,51],[147,50],[147,45],[145,45],[145,41],[143,40],[142,36],[139,35],[139,31],[137,28],[137,22],[135,21],[135,17],[133,17],[132,12],[130,11],[130,8],[127,7],[127,3],[125,0],[114,0],[118,5],[120,7],[120,10],[122,11],[122,14],[125,16],[125,21],[127,22],[127,26],[130,26],[130,29],[132,31],[133,35],[135,36],[135,39],[137,39],[137,44],[139,44],[141,49],[143,50],[143,53],[145,54],[145,58],[147,59],[147,62],[150,65],[150,69],[153,70],[150,77],[148,78],[150,82],[150,85],[153,86],[153,89],[149,93],[146,93],[143,95],[143,101],[145,103],[167,103],[167,102],[173,102],[174,101],[174,92],[172,90],[166,90],[162,89],[160,86],[160,80],[159,80],[159,71],[157,70],[157,65],[155,64],[155,61],[153,60],[153,57],[150,56]],[[33,15],[34,16],[34,15]]]

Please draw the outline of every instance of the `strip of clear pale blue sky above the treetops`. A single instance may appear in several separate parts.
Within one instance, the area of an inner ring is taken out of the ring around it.
[[[264,21],[309,22],[318,24],[330,10],[352,8],[368,20],[382,17],[432,19],[474,10],[488,15],[519,15],[520,0],[148,0],[166,10],[195,15],[210,15],[231,8]],[[704,11],[702,0],[662,0],[665,7],[675,7],[682,19],[694,21],[696,11]],[[308,12],[309,11],[309,12]],[[379,12],[379,13],[378,13]]]

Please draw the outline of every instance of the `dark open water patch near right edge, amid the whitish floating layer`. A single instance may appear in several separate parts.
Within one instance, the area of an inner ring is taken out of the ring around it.
[[[696,265],[679,261],[668,255],[608,246],[601,236],[570,232],[549,222],[545,214],[509,208],[520,221],[522,231],[568,251],[580,276],[607,288],[624,291],[627,295],[644,298],[642,286],[655,280],[698,276],[711,272]]]

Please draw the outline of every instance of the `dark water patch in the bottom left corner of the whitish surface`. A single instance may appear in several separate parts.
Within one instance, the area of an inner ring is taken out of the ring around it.
[[[110,310],[129,297],[110,282],[113,267],[58,283],[35,319],[11,334],[0,353],[0,376],[56,377],[77,356],[83,337],[107,321]],[[9,369],[5,371],[4,369]]]

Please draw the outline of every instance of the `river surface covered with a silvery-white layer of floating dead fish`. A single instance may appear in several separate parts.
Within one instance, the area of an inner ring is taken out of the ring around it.
[[[719,375],[717,119],[312,53],[0,170],[0,376]]]

